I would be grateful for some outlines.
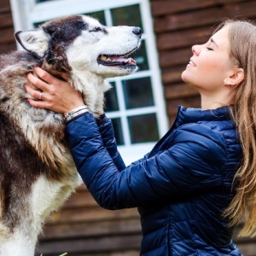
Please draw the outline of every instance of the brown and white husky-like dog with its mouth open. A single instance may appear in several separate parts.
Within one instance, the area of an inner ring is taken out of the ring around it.
[[[23,49],[0,56],[1,256],[34,255],[45,218],[82,183],[63,116],[32,108],[27,73],[42,67],[57,78],[67,74],[90,113],[97,113],[110,89],[106,79],[137,71],[128,55],[140,47],[141,36],[138,27],[102,26],[90,16],[72,15],[16,32]]]

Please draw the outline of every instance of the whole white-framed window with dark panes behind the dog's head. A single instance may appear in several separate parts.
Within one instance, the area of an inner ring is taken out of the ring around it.
[[[15,30],[77,14],[91,15],[106,26],[142,28],[142,46],[131,55],[139,71],[109,79],[113,88],[106,93],[106,112],[126,164],[148,153],[167,129],[149,0],[11,0],[11,5]]]

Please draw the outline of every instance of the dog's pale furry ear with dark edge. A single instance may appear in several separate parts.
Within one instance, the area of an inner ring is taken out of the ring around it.
[[[43,58],[49,46],[49,34],[43,30],[30,30],[15,32],[18,43],[27,51]]]

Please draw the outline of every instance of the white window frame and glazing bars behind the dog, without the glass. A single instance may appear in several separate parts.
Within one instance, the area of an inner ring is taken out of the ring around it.
[[[158,123],[159,136],[162,137],[168,128],[168,121],[166,115],[166,102],[164,99],[163,86],[161,84],[160,67],[158,62],[158,55],[156,50],[153,20],[150,12],[149,0],[55,0],[43,3],[35,3],[34,0],[10,0],[15,31],[32,29],[32,24],[44,20],[52,20],[63,15],[77,15],[81,13],[92,13],[99,10],[105,11],[107,25],[111,26],[111,19],[109,9],[124,7],[132,4],[140,4],[140,11],[143,22],[143,39],[146,39],[148,54],[148,70],[140,71],[125,77],[125,79],[139,79],[143,77],[150,77],[152,83],[152,90],[154,95],[154,107],[136,108],[125,110],[125,106],[118,111],[119,118],[122,119],[122,130],[125,140],[125,146],[119,146],[119,152],[125,160],[125,164],[130,164],[134,160],[142,158],[147,154],[154,143],[137,143],[131,144],[129,140],[129,128],[127,124],[127,114],[142,114],[155,113]],[[20,46],[18,49],[20,49]],[[109,79],[114,81],[117,90],[121,88],[121,80],[124,78]],[[120,94],[121,96],[122,94]],[[119,98],[119,102],[125,105],[125,101]],[[117,113],[109,112],[109,118],[117,117]]]

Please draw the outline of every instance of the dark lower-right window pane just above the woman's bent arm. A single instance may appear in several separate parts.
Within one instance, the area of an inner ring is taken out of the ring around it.
[[[128,117],[131,143],[148,143],[159,140],[155,113]]]

